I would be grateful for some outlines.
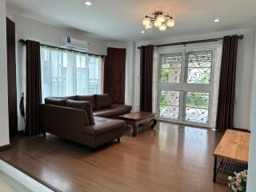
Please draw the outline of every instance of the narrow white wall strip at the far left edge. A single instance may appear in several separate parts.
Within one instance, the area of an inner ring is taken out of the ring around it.
[[[0,146],[9,141],[7,52],[6,52],[6,0],[0,1]]]

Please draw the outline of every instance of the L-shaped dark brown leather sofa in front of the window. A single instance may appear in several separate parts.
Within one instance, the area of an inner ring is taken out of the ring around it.
[[[39,107],[39,125],[46,133],[95,148],[122,137],[126,122],[112,119],[131,106],[112,104],[109,95],[46,98]]]

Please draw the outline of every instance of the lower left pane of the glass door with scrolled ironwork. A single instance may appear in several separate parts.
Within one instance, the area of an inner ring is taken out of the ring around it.
[[[179,95],[178,91],[161,90],[160,92],[160,116],[162,118],[179,118]]]

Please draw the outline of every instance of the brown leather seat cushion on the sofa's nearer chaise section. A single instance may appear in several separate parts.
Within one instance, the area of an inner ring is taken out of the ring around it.
[[[124,126],[126,126],[126,122],[110,118],[94,117],[94,121],[94,125],[83,127],[84,134],[96,136],[99,134],[104,134],[111,130],[122,129]]]

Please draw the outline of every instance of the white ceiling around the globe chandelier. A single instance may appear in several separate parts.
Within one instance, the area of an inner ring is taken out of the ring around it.
[[[256,0],[6,0],[7,7],[28,18],[84,30],[109,40],[146,40],[256,26]],[[142,17],[162,10],[176,26],[165,32],[143,30]],[[221,22],[213,22],[220,18]]]

